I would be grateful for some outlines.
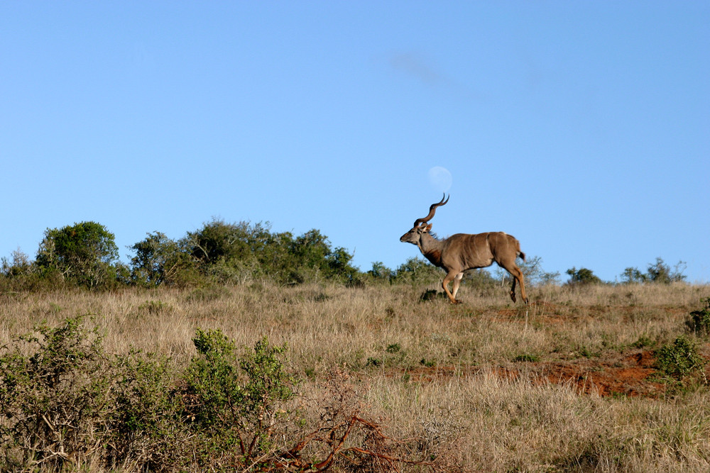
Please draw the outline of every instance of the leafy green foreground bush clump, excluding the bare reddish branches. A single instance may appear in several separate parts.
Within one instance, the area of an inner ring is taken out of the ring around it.
[[[83,316],[16,338],[0,356],[0,471],[273,460],[283,403],[295,395],[278,360],[285,347],[263,338],[240,356],[219,330],[198,329],[194,342],[199,355],[179,373],[136,350],[107,355]]]

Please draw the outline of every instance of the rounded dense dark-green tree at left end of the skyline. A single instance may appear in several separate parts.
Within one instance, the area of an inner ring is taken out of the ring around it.
[[[100,223],[82,222],[47,229],[37,253],[45,272],[60,272],[67,279],[95,288],[116,279],[119,249],[114,234]]]

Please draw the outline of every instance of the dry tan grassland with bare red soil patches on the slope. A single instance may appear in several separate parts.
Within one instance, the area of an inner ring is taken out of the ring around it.
[[[4,294],[0,345],[90,314],[107,352],[156,352],[177,369],[195,355],[197,328],[245,346],[266,335],[287,344],[302,396],[317,396],[339,369],[361,416],[388,438],[416,438],[434,460],[401,470],[710,471],[706,373],[673,379],[655,363],[655,350],[687,333],[709,286],[543,286],[528,307],[504,288],[461,289],[457,306],[420,301],[424,289],[263,282]],[[697,343],[707,358],[710,346]],[[92,470],[88,460],[72,468]]]

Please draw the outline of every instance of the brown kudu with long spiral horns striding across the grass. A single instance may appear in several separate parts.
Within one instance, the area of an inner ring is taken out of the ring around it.
[[[510,299],[515,302],[515,282],[517,281],[520,283],[520,294],[523,296],[523,301],[528,304],[523,272],[515,265],[515,258],[518,256],[525,261],[525,253],[520,251],[518,240],[503,232],[457,233],[443,240],[432,236],[430,233],[432,224],[427,224],[427,222],[434,218],[437,207],[445,205],[449,201],[449,199],[444,201],[444,197],[437,204],[430,206],[429,215],[425,218],[417,218],[412,229],[402,235],[400,241],[417,245],[422,255],[432,262],[432,265],[443,268],[447,272],[442,286],[444,286],[444,291],[452,304],[459,304],[456,293],[459,291],[464,271],[488,267],[493,265],[494,261],[513,276]],[[449,291],[447,285],[452,281],[454,282],[453,291]]]

